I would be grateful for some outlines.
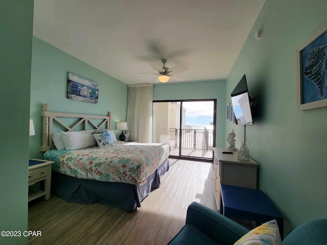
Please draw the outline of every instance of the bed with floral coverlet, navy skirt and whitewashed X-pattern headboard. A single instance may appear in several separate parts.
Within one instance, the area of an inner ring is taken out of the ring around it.
[[[60,131],[67,131],[68,135],[76,131],[88,134],[90,128],[110,130],[110,112],[108,116],[50,112],[49,106],[44,104],[41,115],[40,150],[45,152],[44,159],[55,161],[51,191],[65,201],[100,202],[131,212],[141,207],[151,190],[159,187],[160,179],[169,169],[167,144],[113,140],[113,145],[104,148],[56,149],[53,138],[58,134],[54,132],[58,126],[55,125],[59,125]],[[73,126],[64,121],[69,119]]]

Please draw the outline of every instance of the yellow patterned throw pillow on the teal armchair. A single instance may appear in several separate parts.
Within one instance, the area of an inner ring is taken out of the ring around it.
[[[276,220],[271,220],[242,236],[234,245],[282,245]]]

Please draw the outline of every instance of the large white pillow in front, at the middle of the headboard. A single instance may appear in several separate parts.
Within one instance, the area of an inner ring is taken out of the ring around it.
[[[77,150],[97,145],[93,131],[60,132],[66,150]]]

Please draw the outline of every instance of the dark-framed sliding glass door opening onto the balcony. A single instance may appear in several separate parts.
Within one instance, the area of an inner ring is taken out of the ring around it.
[[[153,102],[153,142],[168,143],[171,157],[212,160],[216,100]]]

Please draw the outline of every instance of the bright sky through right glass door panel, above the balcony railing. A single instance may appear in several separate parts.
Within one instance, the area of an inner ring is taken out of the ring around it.
[[[214,102],[183,102],[186,109],[185,125],[210,125],[214,122]]]

